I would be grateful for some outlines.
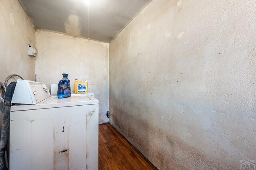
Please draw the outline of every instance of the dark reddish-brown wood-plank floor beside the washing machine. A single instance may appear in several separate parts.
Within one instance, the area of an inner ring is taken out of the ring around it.
[[[99,125],[99,170],[156,170],[110,123]]]

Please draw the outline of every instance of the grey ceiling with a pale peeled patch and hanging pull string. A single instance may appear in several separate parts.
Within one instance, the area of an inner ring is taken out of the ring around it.
[[[152,0],[19,0],[36,28],[110,42]]]

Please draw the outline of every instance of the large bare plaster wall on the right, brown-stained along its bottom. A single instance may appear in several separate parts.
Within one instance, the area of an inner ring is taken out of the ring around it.
[[[110,43],[111,124],[159,169],[256,159],[256,0],[153,0]]]

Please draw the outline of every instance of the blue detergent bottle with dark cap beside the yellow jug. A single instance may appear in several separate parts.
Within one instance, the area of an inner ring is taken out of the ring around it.
[[[71,96],[70,80],[68,79],[68,74],[62,74],[63,78],[58,84],[57,96],[59,99]]]

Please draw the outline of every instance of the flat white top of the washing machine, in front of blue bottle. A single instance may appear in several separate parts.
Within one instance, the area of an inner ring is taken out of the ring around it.
[[[81,105],[95,105],[99,104],[98,99],[94,97],[84,96],[71,96],[68,98],[58,99],[57,96],[51,96],[36,105],[13,105],[11,111],[26,111],[34,109],[47,109],[56,107],[70,107],[70,106],[81,106]]]

